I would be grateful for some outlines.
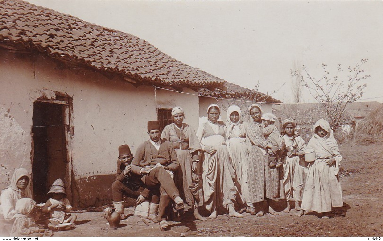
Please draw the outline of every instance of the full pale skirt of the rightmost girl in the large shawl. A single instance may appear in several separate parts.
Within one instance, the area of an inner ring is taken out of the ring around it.
[[[342,207],[342,188],[335,167],[326,165],[325,160],[310,164],[302,198],[301,208],[324,213],[331,207]]]

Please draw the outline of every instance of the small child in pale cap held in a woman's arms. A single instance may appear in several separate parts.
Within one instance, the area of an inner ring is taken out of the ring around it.
[[[278,168],[282,166],[280,152],[283,150],[283,141],[281,134],[278,132],[277,126],[274,125],[276,117],[272,113],[265,113],[261,118],[262,122],[264,123],[262,132],[266,140],[274,146],[278,147],[278,151],[275,153],[272,151],[272,149],[267,149],[269,154],[268,166],[270,168],[274,166]]]

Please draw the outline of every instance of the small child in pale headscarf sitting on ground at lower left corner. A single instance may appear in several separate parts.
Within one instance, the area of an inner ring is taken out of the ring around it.
[[[21,198],[15,205],[15,221],[11,236],[43,236],[46,229],[39,228],[34,220],[37,211],[36,202],[31,198]]]

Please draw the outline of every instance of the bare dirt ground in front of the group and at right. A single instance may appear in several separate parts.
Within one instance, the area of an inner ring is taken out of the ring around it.
[[[57,231],[54,236],[382,236],[383,143],[343,144],[340,152],[344,207],[333,210],[329,219],[320,219],[316,213],[297,217],[295,210],[263,217],[246,213],[244,218],[219,215],[205,222],[186,216],[181,223],[171,223],[168,230],[162,231],[158,224],[147,225],[137,216],[111,229],[103,213],[84,212],[78,213],[74,230]],[[277,211],[285,205],[284,201],[275,202]],[[126,213],[132,212],[132,207],[126,209]]]

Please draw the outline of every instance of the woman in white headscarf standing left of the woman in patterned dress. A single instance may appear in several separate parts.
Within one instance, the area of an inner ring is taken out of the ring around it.
[[[246,146],[246,126],[247,122],[242,120],[241,108],[236,105],[231,105],[228,108],[228,116],[226,120],[226,136],[228,141],[229,155],[232,165],[236,173],[236,185],[242,203],[246,204],[246,212],[255,214],[253,203],[250,202],[249,190],[247,184],[247,165],[248,151]]]

